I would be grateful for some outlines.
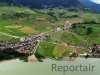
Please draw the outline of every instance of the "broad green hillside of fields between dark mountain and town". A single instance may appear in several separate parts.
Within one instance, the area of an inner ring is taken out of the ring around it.
[[[42,32],[50,31],[51,29],[57,27],[62,27],[65,24],[64,20],[66,20],[66,18],[70,21],[71,24],[73,24],[84,21],[100,22],[99,16],[99,13],[96,14],[80,10],[75,12],[74,10],[69,11],[65,8],[60,10],[59,8],[53,8],[51,11],[50,9],[38,10],[30,9],[28,7],[1,6],[0,32],[4,32],[12,36],[22,37],[39,34]],[[98,27],[95,26],[95,28],[99,30]],[[67,34],[68,33],[66,33],[66,35]],[[58,35],[58,37],[59,36],[60,35]],[[70,36],[72,36],[72,34],[70,34],[69,37]],[[64,40],[64,38],[62,39]]]

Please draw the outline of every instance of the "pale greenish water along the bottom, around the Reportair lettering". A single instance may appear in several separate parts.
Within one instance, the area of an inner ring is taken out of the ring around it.
[[[94,65],[93,71],[52,71],[52,64],[57,66]],[[75,61],[56,61],[44,59],[43,62],[23,62],[19,59],[0,62],[0,75],[100,75],[100,59],[77,58]]]

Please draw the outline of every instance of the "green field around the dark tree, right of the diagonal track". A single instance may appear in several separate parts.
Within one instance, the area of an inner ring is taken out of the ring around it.
[[[86,34],[87,28],[92,27],[92,33]],[[100,44],[100,25],[98,24],[82,24],[77,25],[74,29],[71,30],[73,33],[80,36],[82,40],[87,41],[87,46],[92,44]]]

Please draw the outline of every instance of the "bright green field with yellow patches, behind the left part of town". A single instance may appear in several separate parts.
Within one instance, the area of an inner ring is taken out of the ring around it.
[[[50,31],[52,29],[47,20],[30,20],[31,22],[24,18],[18,20],[0,20],[0,32],[9,33],[14,36],[27,36],[30,34]]]

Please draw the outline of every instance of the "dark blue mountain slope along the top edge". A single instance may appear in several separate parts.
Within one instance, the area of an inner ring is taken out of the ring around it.
[[[0,4],[5,5],[23,5],[34,8],[43,8],[46,7],[77,7],[81,6],[78,0],[0,0]]]

